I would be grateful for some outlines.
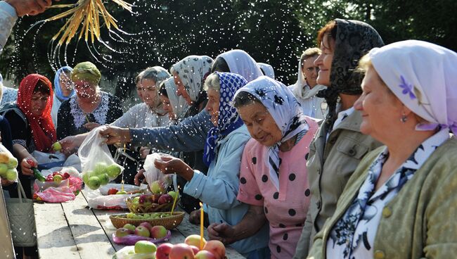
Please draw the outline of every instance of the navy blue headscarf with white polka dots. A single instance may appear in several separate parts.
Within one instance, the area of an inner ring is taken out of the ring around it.
[[[203,162],[210,166],[214,156],[216,156],[217,142],[223,139],[226,135],[238,127],[243,126],[243,120],[236,111],[236,108],[231,105],[235,92],[244,87],[247,81],[238,74],[228,72],[216,72],[219,76],[219,118],[217,126],[212,127],[208,132],[208,137],[205,144],[205,152],[203,153]]]

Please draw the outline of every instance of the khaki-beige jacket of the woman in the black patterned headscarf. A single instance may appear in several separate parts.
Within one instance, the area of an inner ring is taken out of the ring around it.
[[[307,162],[311,203],[294,259],[306,258],[314,235],[335,212],[338,198],[360,160],[380,142],[360,132],[362,118],[358,110],[330,132],[326,140],[324,121],[309,146]]]

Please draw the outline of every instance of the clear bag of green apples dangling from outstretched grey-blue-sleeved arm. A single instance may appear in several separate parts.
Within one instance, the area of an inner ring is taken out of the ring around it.
[[[86,186],[93,190],[108,184],[124,170],[112,159],[105,139],[100,134],[100,131],[104,129],[105,127],[101,126],[92,130],[78,149],[82,180]]]

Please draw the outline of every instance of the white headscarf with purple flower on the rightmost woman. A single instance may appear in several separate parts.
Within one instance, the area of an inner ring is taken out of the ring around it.
[[[406,107],[427,120],[416,130],[457,133],[457,53],[429,42],[395,42],[369,53],[378,75]]]

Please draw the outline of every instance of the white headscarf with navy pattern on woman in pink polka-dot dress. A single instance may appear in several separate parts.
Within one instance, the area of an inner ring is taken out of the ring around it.
[[[247,91],[262,102],[283,135],[283,138],[278,143],[267,147],[269,156],[267,156],[267,160],[265,161],[269,167],[269,179],[273,182],[276,189],[279,190],[278,176],[279,166],[281,165],[279,146],[299,132],[309,130],[302,112],[302,107],[288,87],[270,77],[259,77],[257,80],[249,82],[245,87],[239,89],[236,94],[241,91]]]

